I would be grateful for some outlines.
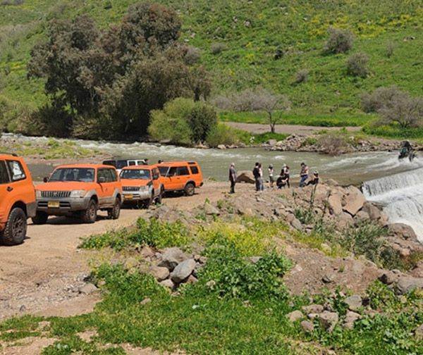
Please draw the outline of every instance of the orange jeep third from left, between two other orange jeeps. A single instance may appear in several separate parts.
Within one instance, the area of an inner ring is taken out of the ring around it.
[[[148,208],[153,201],[161,203],[164,185],[157,166],[127,166],[121,170],[123,202],[136,202]]]

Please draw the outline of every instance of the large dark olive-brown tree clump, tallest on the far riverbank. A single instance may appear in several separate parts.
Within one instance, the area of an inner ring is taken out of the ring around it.
[[[185,62],[180,25],[175,11],[157,4],[131,6],[109,30],[87,16],[56,21],[47,42],[32,49],[28,73],[45,77],[51,102],[71,113],[69,132],[137,138],[147,133],[150,111],[178,96],[200,100],[211,91],[204,68]]]

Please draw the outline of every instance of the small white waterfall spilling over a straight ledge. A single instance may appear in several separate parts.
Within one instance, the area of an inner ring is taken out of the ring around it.
[[[404,223],[423,243],[423,168],[369,180],[362,185],[368,201],[384,207],[391,223]]]

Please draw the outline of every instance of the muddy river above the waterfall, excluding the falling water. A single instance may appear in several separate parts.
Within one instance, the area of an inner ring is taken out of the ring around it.
[[[20,137],[27,142],[37,143],[45,137]],[[228,168],[235,163],[235,168],[252,170],[256,161],[263,164],[266,177],[266,168],[274,165],[275,173],[281,170],[283,163],[290,167],[291,176],[298,177],[300,163],[304,161],[310,172],[319,170],[321,179],[333,178],[342,185],[361,185],[363,181],[381,178],[393,173],[403,172],[423,167],[423,158],[417,158],[410,163],[407,160],[398,161],[398,152],[374,151],[364,153],[343,154],[328,156],[325,154],[295,151],[267,151],[264,148],[243,149],[195,149],[160,145],[150,143],[110,143],[88,140],[75,140],[80,147],[98,149],[110,156],[125,158],[149,158],[150,163],[158,159],[163,161],[195,160],[200,163],[204,179],[213,178],[218,181],[228,180]],[[36,178],[47,175],[54,168],[49,163],[30,165],[31,172]]]

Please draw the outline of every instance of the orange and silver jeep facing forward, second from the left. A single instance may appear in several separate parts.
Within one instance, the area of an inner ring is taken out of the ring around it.
[[[107,211],[112,219],[121,213],[122,184],[113,166],[58,166],[35,192],[34,224],[46,223],[49,216],[78,216],[84,223],[94,223],[98,210]]]

